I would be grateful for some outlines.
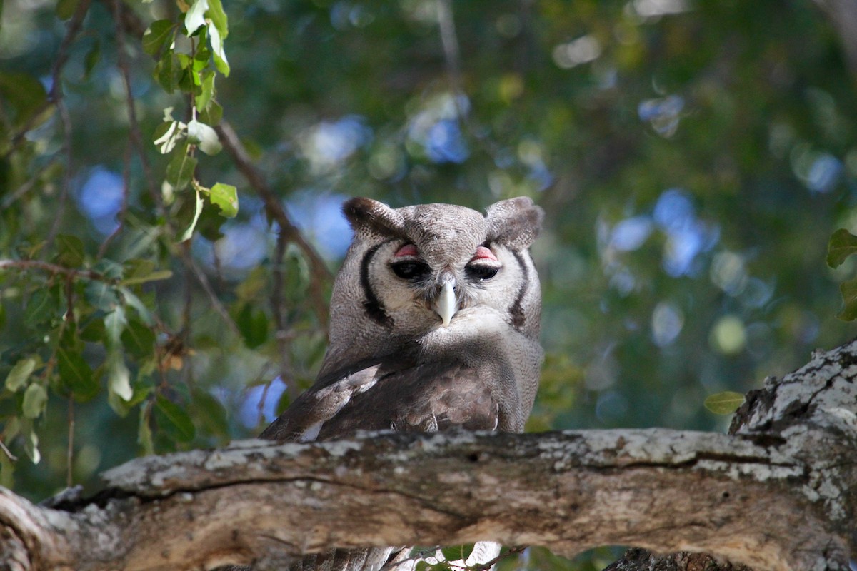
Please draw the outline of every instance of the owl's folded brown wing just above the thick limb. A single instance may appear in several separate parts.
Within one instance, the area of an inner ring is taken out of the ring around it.
[[[387,356],[320,378],[261,433],[309,442],[358,430],[495,430],[499,404],[488,378],[457,360]]]

